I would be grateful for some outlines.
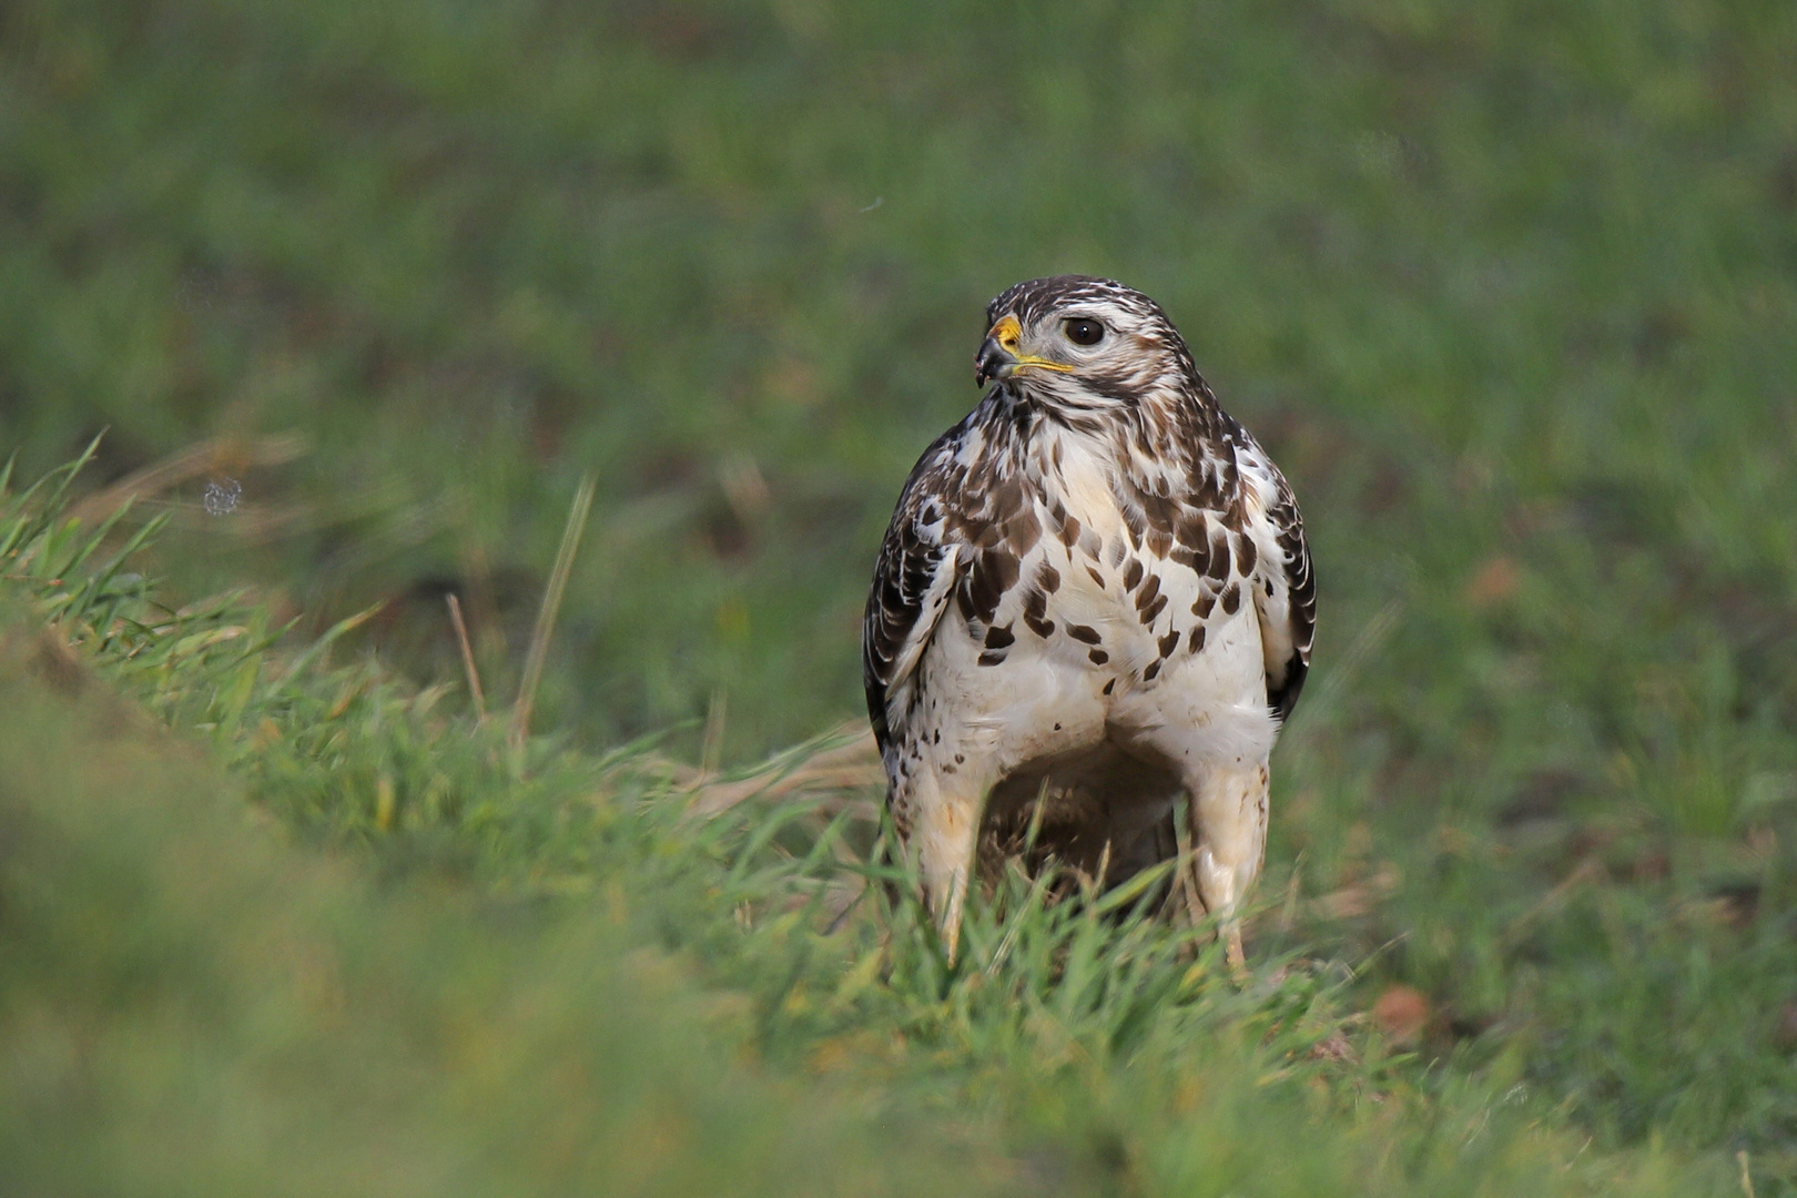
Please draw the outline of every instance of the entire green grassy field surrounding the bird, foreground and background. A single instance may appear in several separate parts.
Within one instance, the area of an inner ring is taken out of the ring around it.
[[[1797,1193],[1792,61],[1770,0],[0,7],[13,490],[108,429],[0,515],[25,1193]],[[845,911],[873,546],[1062,269],[1312,530],[1245,990]]]

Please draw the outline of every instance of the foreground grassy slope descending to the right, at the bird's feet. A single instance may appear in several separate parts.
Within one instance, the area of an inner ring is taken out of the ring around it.
[[[264,607],[169,611],[58,514],[72,472],[0,510],[16,1193],[1700,1184],[1393,1056],[1339,966],[1240,988],[1148,878],[1015,875],[949,968],[866,803],[769,771],[703,815],[643,747],[519,747]]]

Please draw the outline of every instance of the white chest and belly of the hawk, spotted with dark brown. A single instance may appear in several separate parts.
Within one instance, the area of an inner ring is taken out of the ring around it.
[[[981,519],[951,530],[958,582],[895,722],[1017,763],[1202,735],[1263,699],[1253,566],[1224,515],[1188,498],[1150,510],[1161,489],[1076,445],[1051,465],[963,492]]]

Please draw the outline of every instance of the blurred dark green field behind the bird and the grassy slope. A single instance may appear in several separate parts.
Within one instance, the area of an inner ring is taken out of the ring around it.
[[[742,762],[857,717],[872,553],[987,298],[1120,277],[1319,560],[1261,952],[1766,1193],[1793,61],[1775,0],[13,0],[0,447],[34,476],[106,427],[102,487],[199,445],[138,507],[174,602],[385,602],[356,643],[431,684],[453,591],[494,693],[591,472],[539,726]]]

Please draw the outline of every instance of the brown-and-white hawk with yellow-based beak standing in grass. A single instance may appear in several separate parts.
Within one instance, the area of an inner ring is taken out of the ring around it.
[[[1184,799],[1179,885],[1240,968],[1315,629],[1292,490],[1120,282],[999,295],[974,381],[906,480],[863,625],[888,806],[947,954],[981,866],[1028,848],[1118,884],[1179,853]]]

